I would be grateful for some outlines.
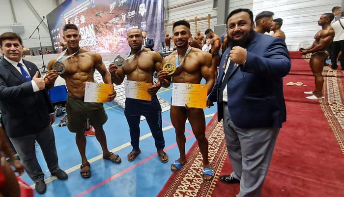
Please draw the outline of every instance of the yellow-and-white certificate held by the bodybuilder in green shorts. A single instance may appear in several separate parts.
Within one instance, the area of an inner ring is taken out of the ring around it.
[[[108,102],[112,92],[113,84],[86,82],[84,102]]]

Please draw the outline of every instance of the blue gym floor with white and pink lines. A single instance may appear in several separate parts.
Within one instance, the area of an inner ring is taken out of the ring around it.
[[[202,81],[204,83],[204,80]],[[158,96],[171,100],[172,85],[170,88],[161,88]],[[108,121],[104,125],[109,150],[119,154],[120,164],[102,159],[100,144],[94,136],[87,136],[86,156],[91,165],[91,177],[84,179],[80,176],[81,158],[75,143],[75,134],[67,127],[58,127],[60,119],[56,118],[53,125],[56,139],[59,166],[68,173],[69,178],[60,181],[51,174],[44,161],[42,151],[36,149],[37,158],[47,183],[47,192],[42,197],[155,197],[172,174],[170,166],[173,160],[179,158],[178,147],[175,142],[175,132],[171,124],[170,110],[163,112],[163,131],[165,137],[165,152],[169,155],[168,163],[160,162],[156,154],[154,139],[147,122],[141,121],[140,149],[142,153],[133,162],[127,160],[127,154],[132,150],[130,145],[129,127],[124,116],[124,109],[117,103],[105,103],[104,108]],[[215,106],[204,109],[206,124],[216,112]],[[190,124],[185,127],[186,152],[195,142]],[[200,175],[201,176],[201,175]],[[22,179],[29,185],[34,185],[28,175]],[[34,188],[34,187],[33,187]],[[35,192],[35,191],[34,191]]]

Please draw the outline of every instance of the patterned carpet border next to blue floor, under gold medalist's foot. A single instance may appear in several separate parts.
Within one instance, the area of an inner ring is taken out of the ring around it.
[[[158,197],[211,196],[225,159],[228,158],[223,126],[222,122],[217,122],[217,114],[209,122],[205,135],[209,142],[209,161],[214,166],[214,179],[212,181],[202,180],[202,156],[197,143],[195,143],[187,154],[188,162],[179,171],[172,174]]]

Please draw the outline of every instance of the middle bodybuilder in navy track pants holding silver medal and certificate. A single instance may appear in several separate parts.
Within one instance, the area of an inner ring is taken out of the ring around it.
[[[126,85],[134,84],[133,86],[144,86],[146,83],[153,83],[153,72],[160,71],[161,68],[161,56],[158,52],[151,51],[149,48],[142,46],[142,31],[140,29],[131,29],[128,32],[128,44],[130,51],[125,57],[125,64],[123,67],[118,67],[115,64],[109,66],[112,81],[119,85],[123,82],[125,75],[127,75]],[[134,82],[134,83],[133,83]],[[156,93],[160,89],[160,84],[151,86],[145,91],[151,95],[150,100],[145,100],[143,97],[139,97],[141,94],[137,94],[138,97],[132,97],[131,95],[125,100],[124,114],[127,118],[131,145],[133,150],[128,154],[128,161],[132,162],[141,153],[140,142],[140,116],[146,117],[148,126],[155,140],[155,147],[162,163],[167,163],[169,157],[164,152],[165,140],[162,131],[162,119],[161,119],[161,106]],[[133,91],[135,87],[127,90]],[[135,89],[136,93],[140,91],[139,88]],[[142,90],[141,90],[142,91]],[[144,93],[143,93],[144,94]],[[140,99],[133,99],[140,98]]]

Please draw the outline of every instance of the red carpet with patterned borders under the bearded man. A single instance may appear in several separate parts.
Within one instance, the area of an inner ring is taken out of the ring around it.
[[[302,64],[292,62],[292,71],[300,73],[297,69]],[[320,101],[305,99],[307,95],[303,92],[315,88],[314,77],[309,75],[309,66],[302,72],[305,74],[291,74],[284,79],[285,84],[300,81],[306,86],[284,86],[287,122],[277,139],[262,196],[344,197],[343,72],[325,71],[329,77],[324,78],[325,99]],[[239,184],[219,181],[219,176],[232,171],[222,123],[213,118],[206,136],[210,144],[209,159],[215,170],[213,181],[201,180],[201,153],[195,143],[187,154],[188,163],[172,174],[158,197],[234,197],[238,194]]]

